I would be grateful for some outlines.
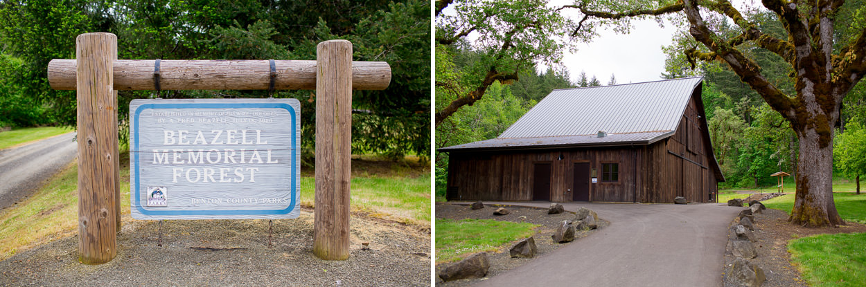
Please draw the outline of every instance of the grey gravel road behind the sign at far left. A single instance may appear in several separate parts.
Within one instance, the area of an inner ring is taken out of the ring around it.
[[[29,196],[77,155],[75,133],[0,150],[0,209]]]

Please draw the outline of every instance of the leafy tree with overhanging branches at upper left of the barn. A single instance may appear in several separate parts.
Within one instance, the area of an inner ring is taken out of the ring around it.
[[[443,12],[446,7],[453,7],[453,15]],[[572,47],[564,40],[571,23],[542,0],[437,2],[436,45],[470,45],[479,57],[460,80],[445,83],[436,77],[436,86],[451,86],[445,105],[436,105],[436,126],[462,106],[475,104],[494,82],[519,80],[520,72],[536,61],[556,64]],[[477,40],[465,41],[469,35]]]

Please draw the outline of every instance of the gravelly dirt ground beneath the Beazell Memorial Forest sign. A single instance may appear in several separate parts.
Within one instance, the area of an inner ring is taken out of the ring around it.
[[[313,255],[313,214],[274,220],[125,220],[118,255],[78,262],[77,236],[0,261],[0,285],[429,286],[430,232],[352,214],[345,261]],[[366,246],[364,243],[368,243]]]

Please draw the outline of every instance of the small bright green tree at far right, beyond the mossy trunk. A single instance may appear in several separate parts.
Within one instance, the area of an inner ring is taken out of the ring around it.
[[[854,177],[860,194],[860,175],[866,175],[866,130],[858,123],[848,125],[833,143],[836,166],[849,178]]]

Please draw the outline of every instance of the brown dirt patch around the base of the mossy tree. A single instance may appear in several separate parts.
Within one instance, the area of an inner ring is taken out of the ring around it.
[[[737,225],[737,219],[731,221],[731,226]],[[791,253],[788,252],[788,241],[817,234],[833,233],[864,233],[866,226],[849,222],[839,227],[807,228],[788,223],[788,214],[778,209],[767,208],[762,214],[754,215],[754,235],[758,241],[754,243],[758,257],[750,259],[766,274],[764,287],[803,286],[808,284],[800,277],[800,272],[791,263]],[[734,231],[728,230],[728,238],[733,239]],[[734,260],[730,252],[725,252],[725,262]]]

